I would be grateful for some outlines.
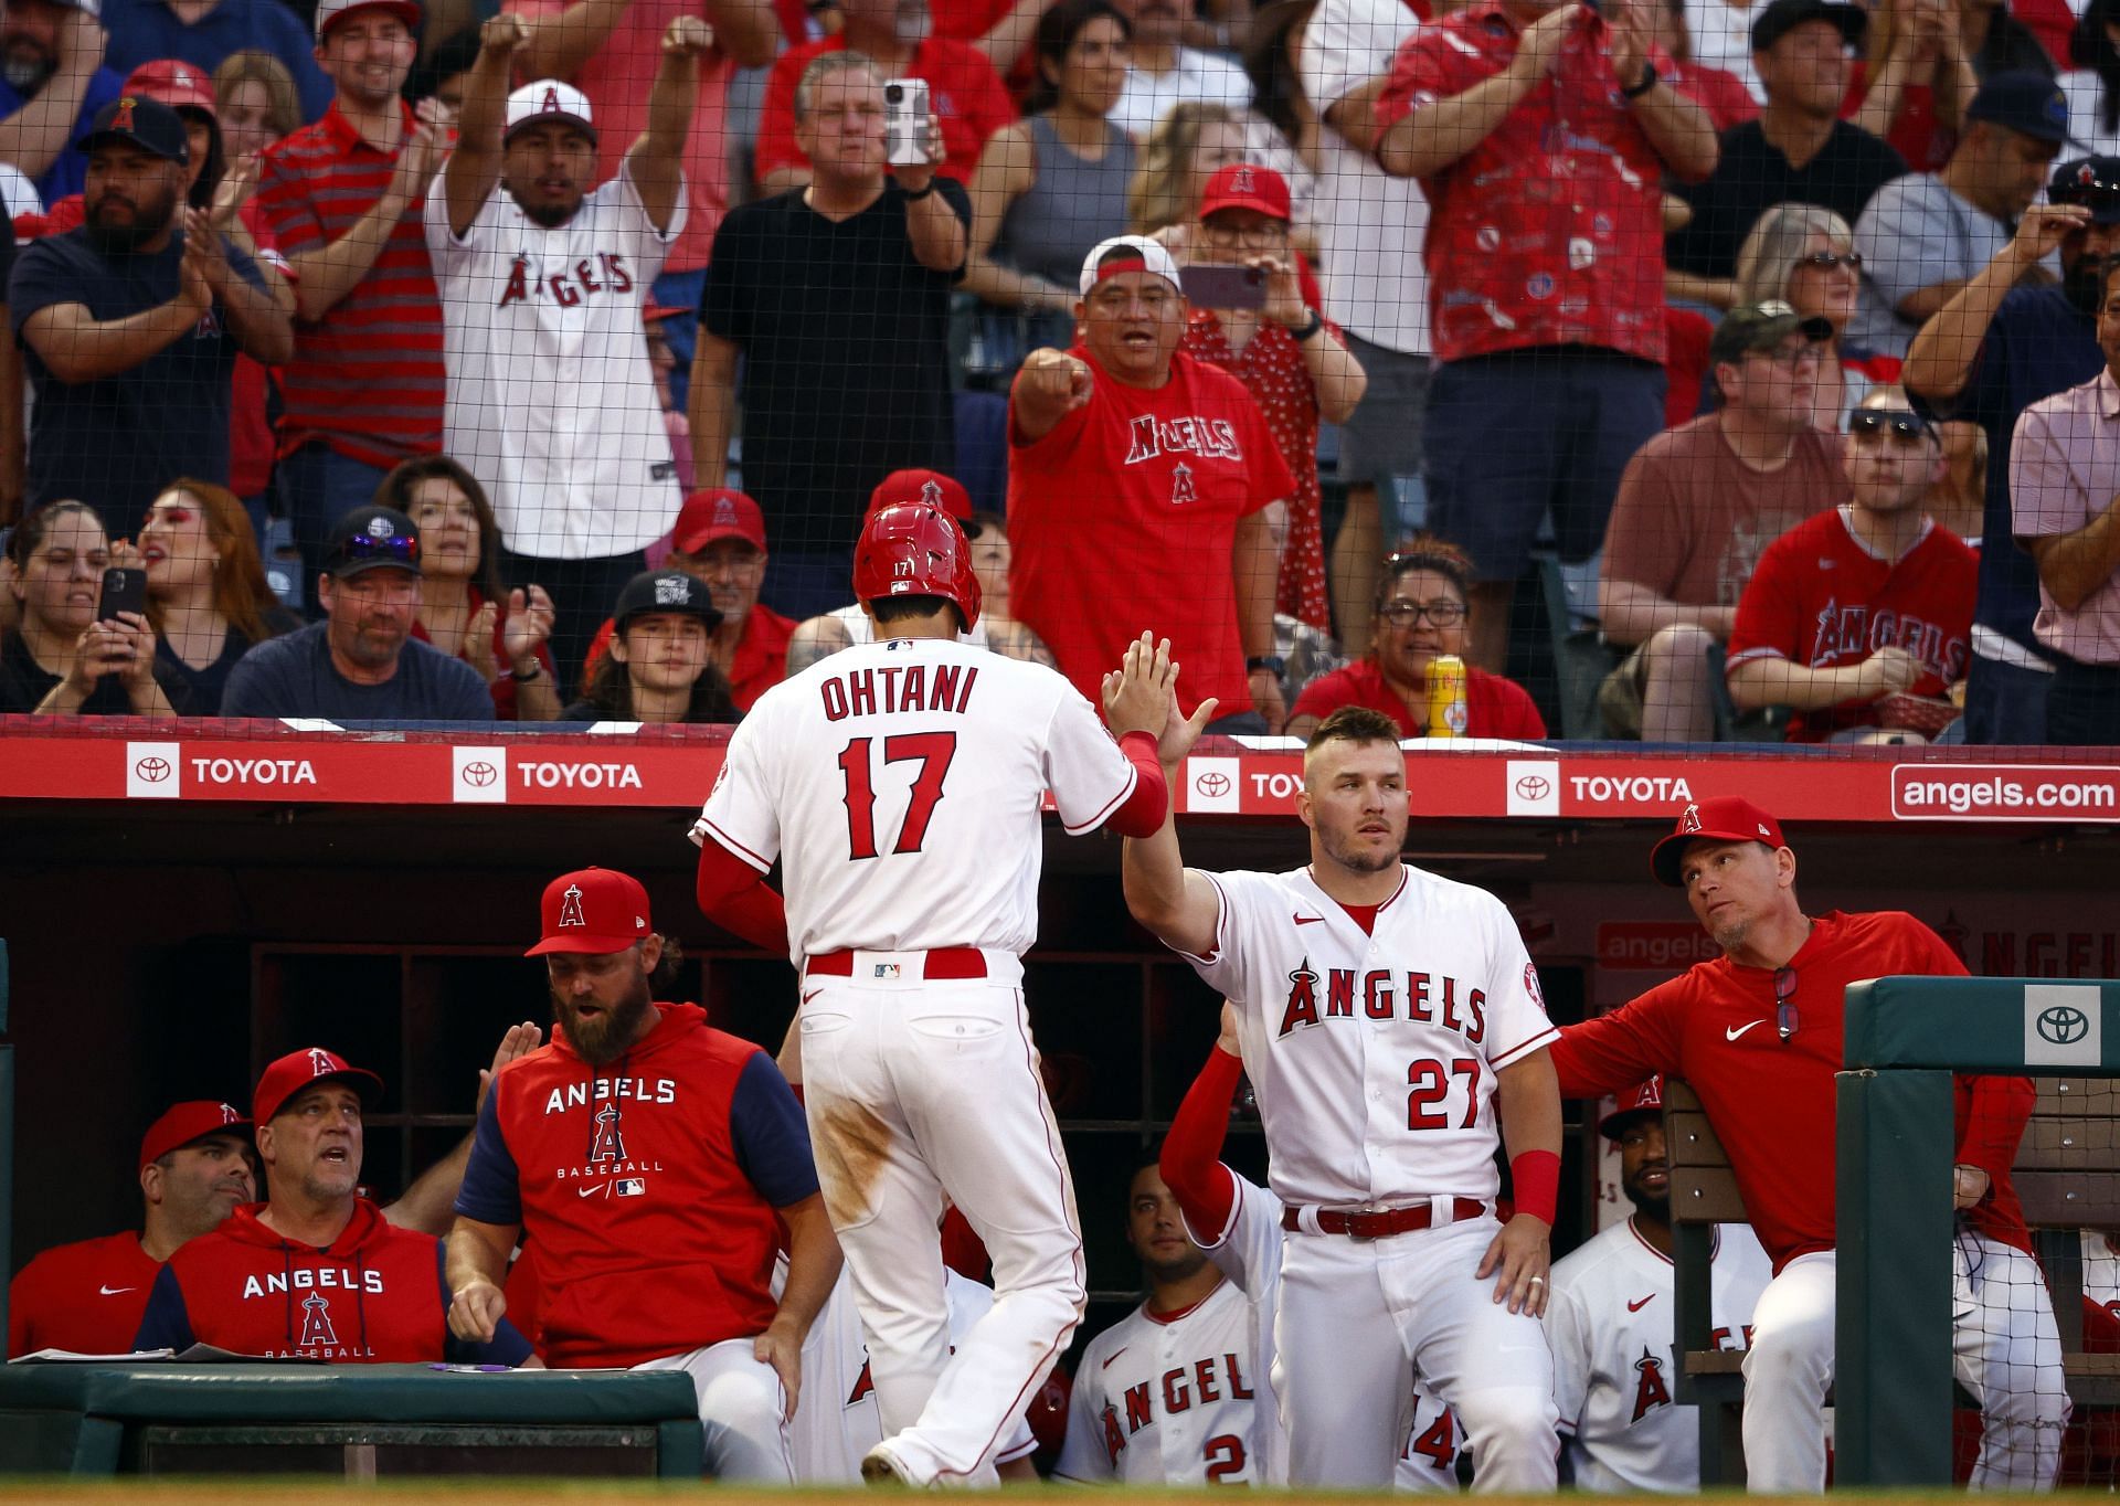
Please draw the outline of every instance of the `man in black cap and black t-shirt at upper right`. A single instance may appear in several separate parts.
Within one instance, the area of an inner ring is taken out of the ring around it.
[[[1738,246],[1766,210],[1819,204],[1853,225],[1870,195],[1906,172],[1900,153],[1840,119],[1849,49],[1866,25],[1866,11],[1840,0],[1770,0],[1760,11],[1751,47],[1766,106],[1724,132],[1704,182],[1671,189],[1692,210],[1664,246],[1673,297],[1730,308]]]

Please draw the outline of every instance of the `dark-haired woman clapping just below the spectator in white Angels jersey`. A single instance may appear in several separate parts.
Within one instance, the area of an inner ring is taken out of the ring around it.
[[[445,454],[405,460],[375,490],[420,528],[420,615],[411,636],[479,672],[500,721],[560,715],[551,649],[551,596],[543,585],[509,590],[496,556],[500,524],[485,488]]]

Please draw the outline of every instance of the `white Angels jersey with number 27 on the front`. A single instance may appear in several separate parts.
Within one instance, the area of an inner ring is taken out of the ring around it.
[[[1495,1071],[1560,1037],[1503,904],[1401,868],[1374,933],[1308,868],[1208,874],[1215,952],[1187,961],[1238,1008],[1283,1203],[1490,1203]]]

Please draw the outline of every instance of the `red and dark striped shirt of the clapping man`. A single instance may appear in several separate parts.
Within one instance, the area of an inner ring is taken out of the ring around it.
[[[401,140],[413,127],[407,108]],[[337,102],[316,125],[267,148],[257,197],[282,255],[343,240],[394,170],[396,153],[371,146]],[[295,358],[280,367],[280,388],[282,456],[312,439],[379,467],[441,450],[441,299],[418,206],[343,299],[318,320],[295,320]]]

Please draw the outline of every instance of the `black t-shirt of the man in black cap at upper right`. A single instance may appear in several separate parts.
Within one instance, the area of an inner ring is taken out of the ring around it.
[[[1870,195],[1902,174],[1906,159],[1900,153],[1847,121],[1834,121],[1825,146],[1802,168],[1789,165],[1757,121],[1732,125],[1707,182],[1671,185],[1694,208],[1694,218],[1664,242],[1664,261],[1675,272],[1728,278],[1745,235],[1777,204],[1823,204],[1855,225]]]

